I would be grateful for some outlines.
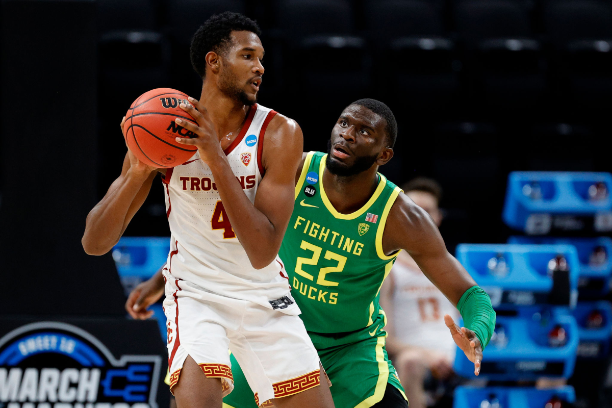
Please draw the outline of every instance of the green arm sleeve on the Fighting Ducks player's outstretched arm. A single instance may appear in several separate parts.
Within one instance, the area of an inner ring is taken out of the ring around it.
[[[489,295],[480,286],[472,286],[459,299],[457,309],[463,317],[464,327],[476,333],[484,350],[495,329],[495,311]]]

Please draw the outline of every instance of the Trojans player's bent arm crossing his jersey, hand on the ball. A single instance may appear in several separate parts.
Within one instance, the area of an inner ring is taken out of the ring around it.
[[[176,122],[197,137],[177,138],[179,143],[198,147],[201,159],[211,168],[223,207],[251,265],[262,269],[274,261],[293,212],[297,166],[303,150],[302,130],[288,117],[277,114],[269,123],[263,153],[264,176],[255,203],[245,195],[221,148],[206,108],[198,100],[181,105],[198,125]]]

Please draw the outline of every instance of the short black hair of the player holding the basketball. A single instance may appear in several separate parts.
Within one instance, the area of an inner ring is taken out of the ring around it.
[[[212,15],[193,34],[189,56],[193,69],[201,78],[206,76],[206,54],[214,51],[223,55],[231,46],[232,31],[250,31],[261,36],[261,30],[255,20],[234,12]]]

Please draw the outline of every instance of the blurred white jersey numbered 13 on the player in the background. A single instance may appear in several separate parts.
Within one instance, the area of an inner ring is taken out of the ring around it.
[[[457,321],[457,308],[427,279],[416,262],[408,261],[411,262],[400,262],[398,258],[391,270],[393,310],[394,316],[398,316],[394,319],[395,334],[402,343],[444,352],[454,360],[457,346],[444,323],[444,314]]]

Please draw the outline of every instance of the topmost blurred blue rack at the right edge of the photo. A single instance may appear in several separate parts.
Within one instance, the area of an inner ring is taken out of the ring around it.
[[[589,188],[597,183],[608,193],[594,199]],[[611,189],[612,175],[605,172],[511,172],[502,217],[529,235],[612,231]]]

